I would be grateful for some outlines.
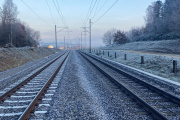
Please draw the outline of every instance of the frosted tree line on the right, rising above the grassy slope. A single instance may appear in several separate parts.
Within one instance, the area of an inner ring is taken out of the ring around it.
[[[161,0],[157,0],[146,9],[145,26],[132,28],[127,32],[111,29],[104,34],[103,42],[106,45],[110,45],[135,41],[179,39],[179,6],[180,0],[165,0],[164,3]]]

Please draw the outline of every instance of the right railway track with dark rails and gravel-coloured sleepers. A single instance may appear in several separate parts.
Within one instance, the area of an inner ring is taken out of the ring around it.
[[[179,120],[180,99],[93,55],[79,52],[103,75],[158,120]]]

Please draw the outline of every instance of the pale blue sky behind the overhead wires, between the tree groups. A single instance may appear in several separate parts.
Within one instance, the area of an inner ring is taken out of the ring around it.
[[[31,28],[41,32],[42,42],[54,41],[54,25],[64,27],[63,22],[58,15],[53,0],[47,0],[52,11],[50,14],[46,0],[23,0],[31,9],[33,9],[44,21],[30,11],[21,0],[13,0],[18,7],[18,18],[26,22]],[[56,2],[56,0],[54,0]],[[57,0],[65,19],[65,23],[72,31],[69,33],[69,42],[76,43],[82,32],[81,27],[87,16],[92,0]],[[93,0],[93,5],[96,0]],[[99,1],[99,4],[98,4]],[[92,18],[95,11],[98,11],[106,0],[97,0],[94,10],[89,18]],[[107,3],[101,11],[92,19],[96,21],[116,0],[107,0]],[[154,0],[118,0],[114,7],[97,23],[92,26],[92,45],[102,44],[103,34],[111,29],[129,30],[132,27],[144,25],[145,11]],[[0,0],[2,6],[4,0]],[[54,20],[53,20],[54,18]],[[55,21],[55,23],[53,22]],[[86,25],[88,27],[88,24]],[[60,30],[61,28],[58,28]],[[62,42],[64,36],[67,38],[67,32],[58,33],[58,43]],[[88,41],[87,37],[87,41]]]

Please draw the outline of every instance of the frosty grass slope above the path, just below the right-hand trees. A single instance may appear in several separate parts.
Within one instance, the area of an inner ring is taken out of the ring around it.
[[[163,41],[140,41],[124,45],[106,46],[101,49],[112,50],[139,50],[165,53],[180,53],[180,40],[163,40]]]

